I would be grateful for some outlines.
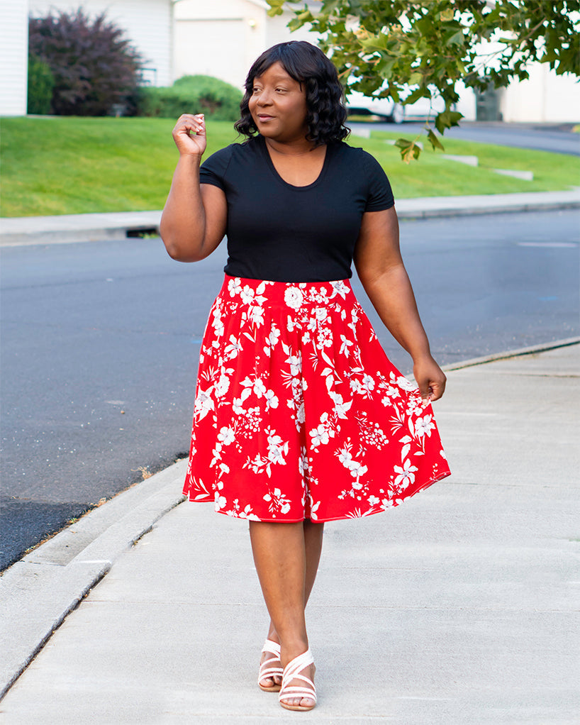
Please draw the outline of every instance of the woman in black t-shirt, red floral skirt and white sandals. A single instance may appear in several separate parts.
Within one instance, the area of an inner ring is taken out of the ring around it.
[[[430,402],[431,357],[399,253],[389,181],[342,141],[336,70],[315,46],[280,43],[249,71],[243,144],[213,154],[202,115],[173,130],[180,158],[160,232],[195,262],[228,236],[223,288],[202,343],[184,491],[249,520],[270,626],[258,684],[290,710],[315,706],[305,606],[323,522],[378,513],[449,475]],[[392,366],[349,285],[413,357]]]

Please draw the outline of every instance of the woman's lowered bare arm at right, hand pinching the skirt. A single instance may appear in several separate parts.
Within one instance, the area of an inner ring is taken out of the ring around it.
[[[423,399],[445,389],[445,375],[431,356],[413,288],[399,249],[394,207],[365,212],[354,254],[355,267],[370,302],[394,339],[413,357],[413,375]]]

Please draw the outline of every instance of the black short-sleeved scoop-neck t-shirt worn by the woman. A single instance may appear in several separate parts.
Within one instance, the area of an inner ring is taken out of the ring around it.
[[[228,263],[233,277],[328,282],[352,276],[365,212],[394,205],[391,185],[370,154],[328,144],[314,183],[292,186],[278,174],[262,136],[212,154],[199,181],[228,202]]]

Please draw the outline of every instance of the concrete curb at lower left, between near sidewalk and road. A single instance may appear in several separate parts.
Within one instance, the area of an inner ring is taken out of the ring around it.
[[[0,700],[115,560],[185,500],[186,465],[180,460],[89,511],[4,572]]]

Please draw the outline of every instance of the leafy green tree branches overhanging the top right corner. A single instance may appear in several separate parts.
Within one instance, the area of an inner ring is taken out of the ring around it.
[[[580,75],[580,0],[322,0],[318,10],[299,1],[268,4],[272,16],[284,5],[293,10],[291,30],[310,25],[320,33],[348,90],[404,105],[440,96],[440,134],[463,117],[452,109],[459,81],[501,88],[528,78],[532,61]],[[426,132],[442,149],[429,122]],[[419,157],[416,139],[397,145],[407,163]]]

